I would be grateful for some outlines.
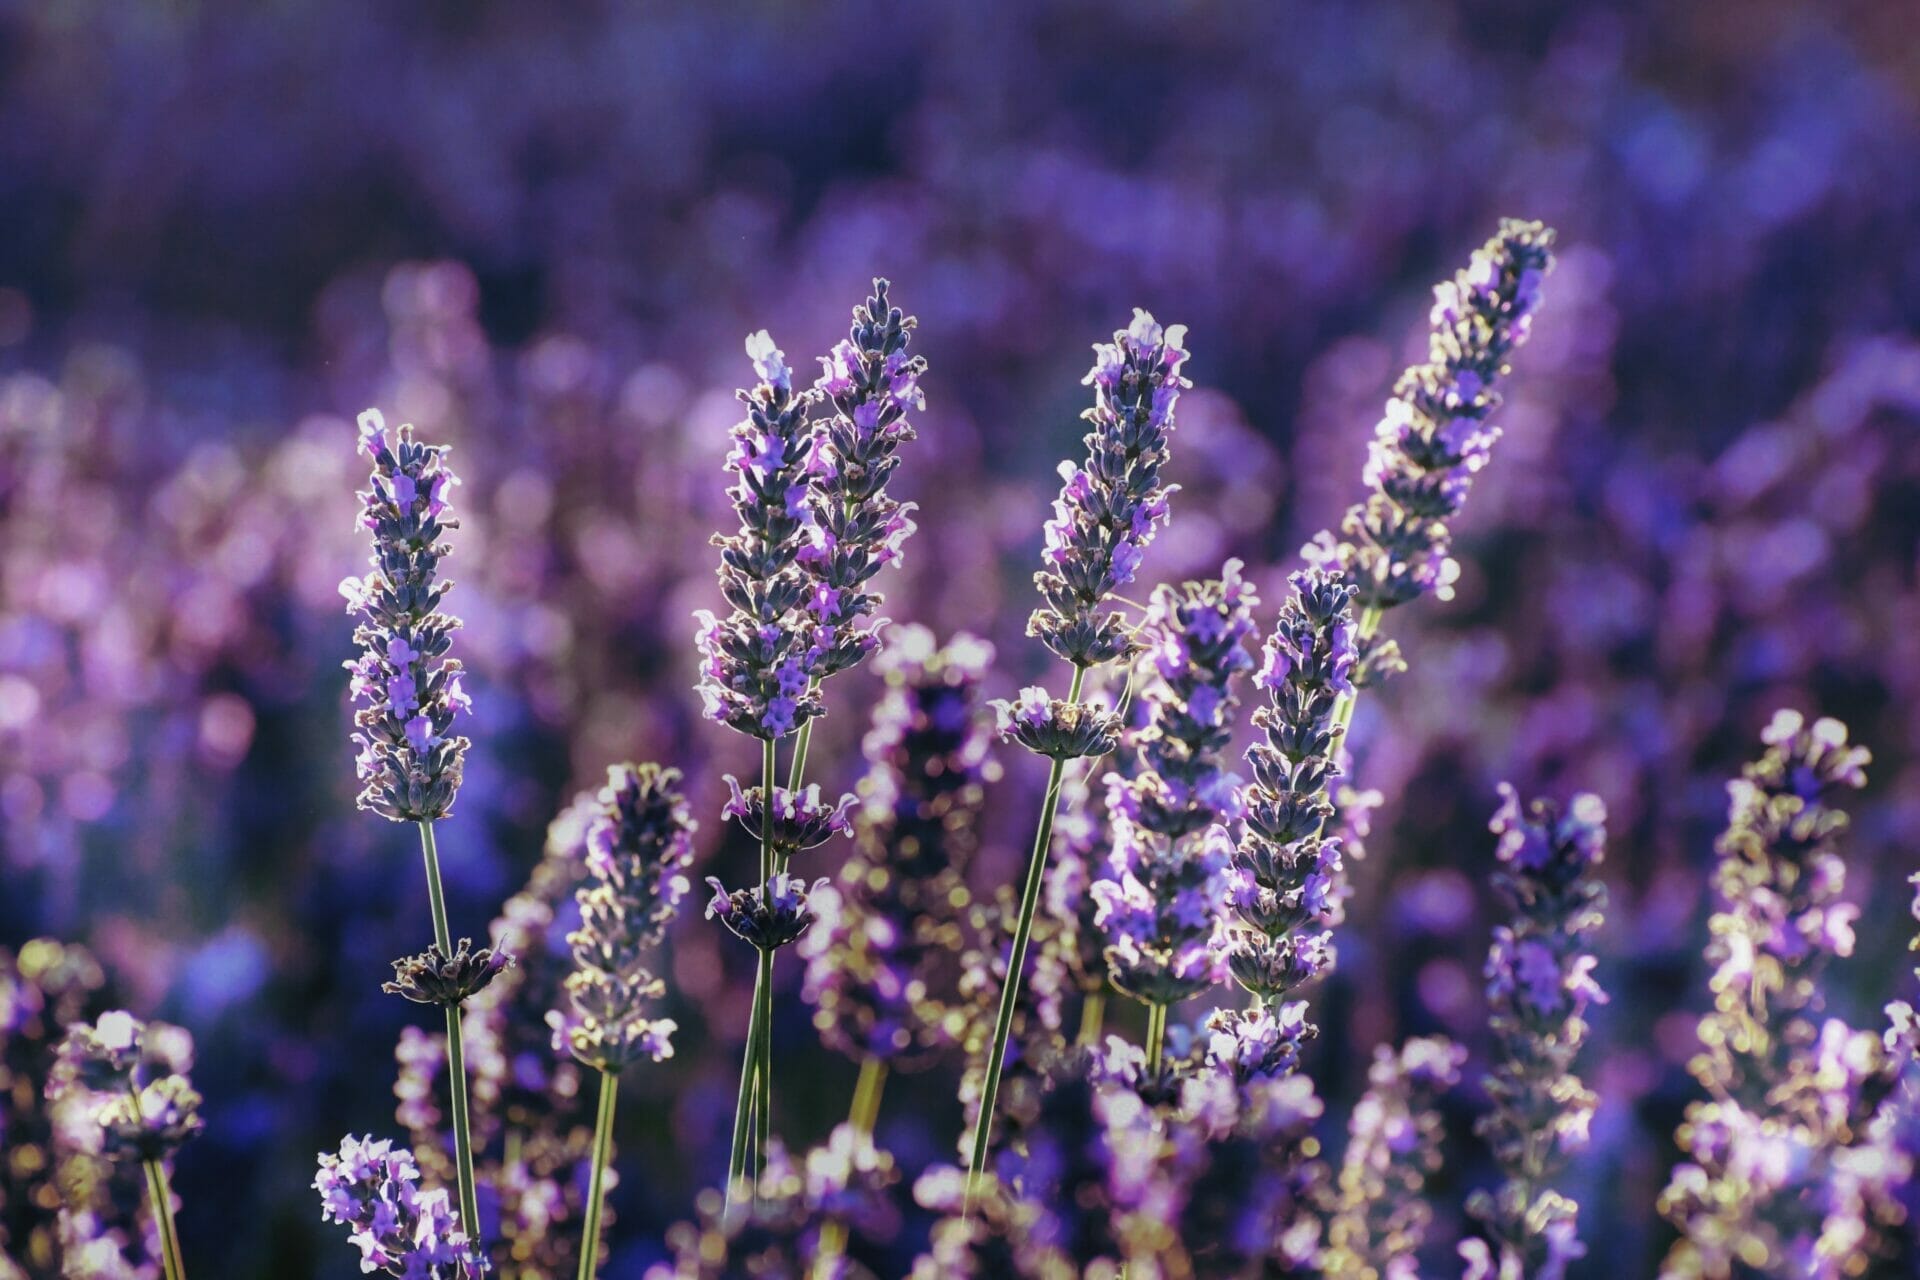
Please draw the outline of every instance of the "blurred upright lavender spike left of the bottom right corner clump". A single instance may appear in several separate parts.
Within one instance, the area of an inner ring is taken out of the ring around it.
[[[1597,1100],[1572,1073],[1586,1040],[1586,1009],[1607,996],[1594,983],[1588,935],[1599,927],[1607,889],[1596,879],[1607,842],[1599,796],[1578,794],[1559,810],[1521,808],[1501,783],[1492,831],[1500,837],[1494,889],[1513,921],[1494,931],[1486,1000],[1500,1061],[1486,1082],[1494,1109],[1475,1126],[1494,1148],[1505,1182],[1467,1201],[1488,1240],[1461,1245],[1469,1280],[1557,1280],[1584,1257],[1580,1207],[1549,1182],[1586,1148]]]

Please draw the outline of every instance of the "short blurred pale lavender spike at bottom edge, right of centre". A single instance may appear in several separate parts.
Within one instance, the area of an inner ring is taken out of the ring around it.
[[[1459,1084],[1465,1061],[1467,1050],[1444,1036],[1415,1036],[1398,1054],[1384,1044],[1375,1050],[1329,1197],[1319,1259],[1329,1280],[1411,1280],[1432,1222],[1427,1178],[1440,1169],[1444,1125],[1434,1103]]]

